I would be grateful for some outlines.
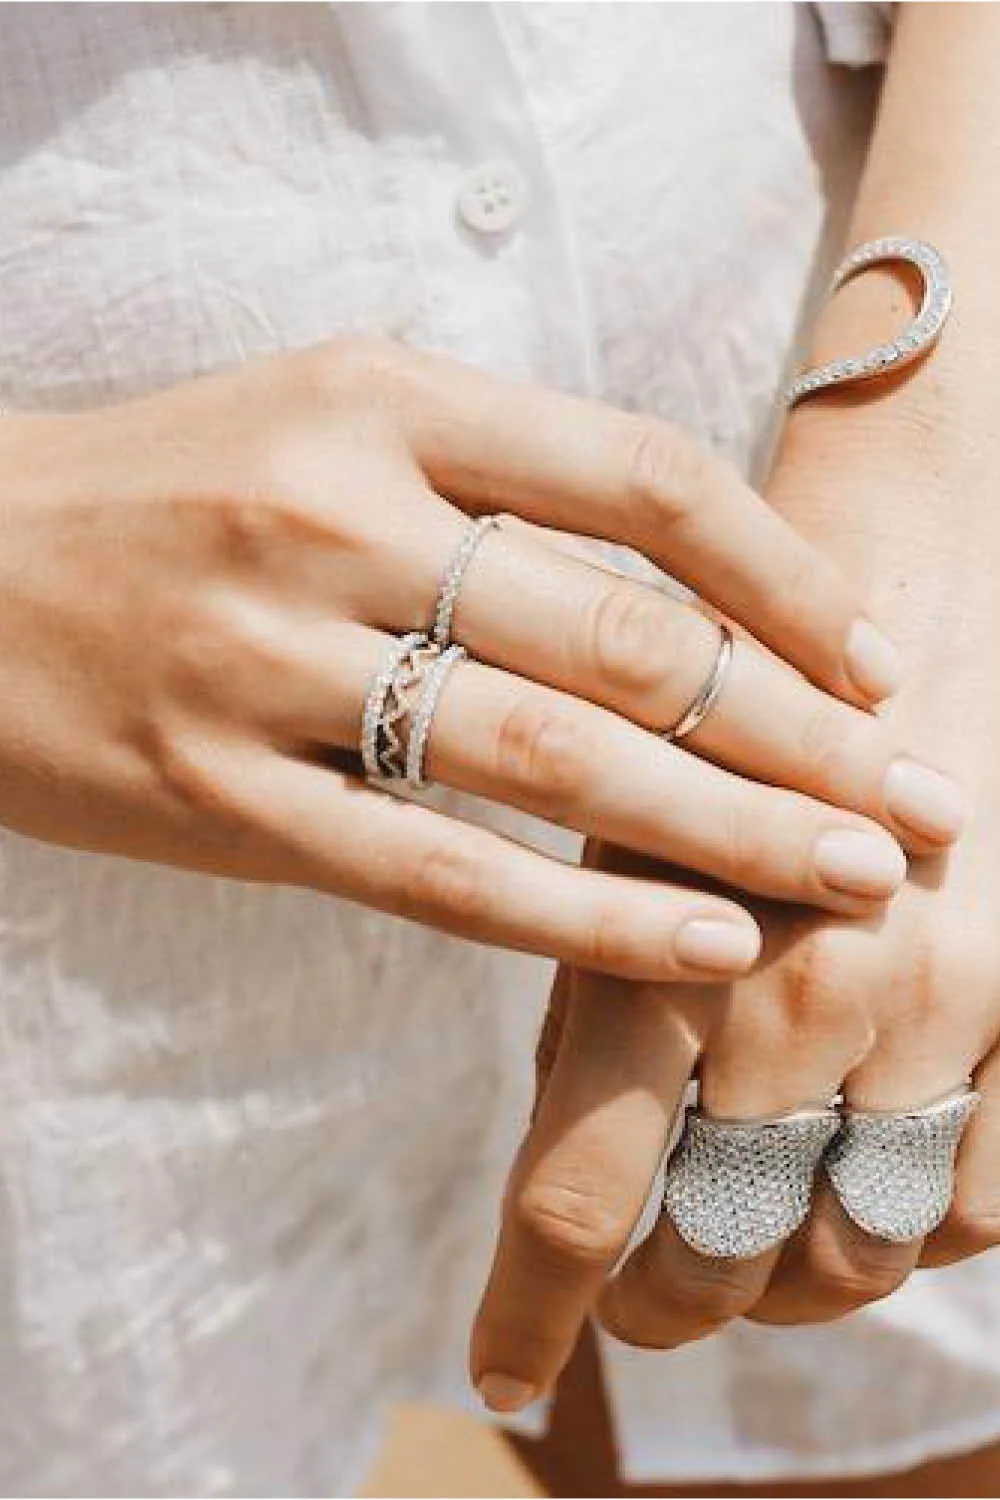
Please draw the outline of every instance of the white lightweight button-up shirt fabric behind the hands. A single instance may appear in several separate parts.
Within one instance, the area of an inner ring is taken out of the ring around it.
[[[381,328],[750,464],[871,93],[804,6],[4,6],[0,396]],[[487,160],[526,189],[504,237],[456,218]],[[0,882],[0,1488],[351,1490],[387,1402],[462,1398],[547,966],[13,836]],[[607,1347],[627,1467],[993,1434],[996,1290]]]

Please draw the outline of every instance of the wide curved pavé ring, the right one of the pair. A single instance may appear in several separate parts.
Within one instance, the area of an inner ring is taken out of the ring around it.
[[[826,1174],[844,1212],[876,1239],[922,1239],[952,1202],[955,1154],[979,1102],[966,1086],[919,1110],[844,1110]]]

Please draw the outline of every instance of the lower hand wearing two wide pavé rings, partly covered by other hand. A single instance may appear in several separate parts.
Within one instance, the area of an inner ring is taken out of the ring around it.
[[[819,422],[811,430],[825,436]],[[811,502],[817,537],[853,552],[858,572],[876,574],[873,592],[898,602],[912,681],[883,729],[934,741],[936,759],[972,792],[972,825],[951,852],[916,862],[871,918],[756,904],[763,962],[733,986],[661,988],[561,970],[472,1340],[487,1404],[510,1410],[546,1390],[591,1310],[618,1336],[669,1348],[741,1316],[838,1317],[891,1293],[916,1264],[1000,1244],[1000,693],[984,651],[1000,628],[1000,594],[982,524],[994,506],[979,478],[993,470],[964,474],[957,442],[955,468],[942,472],[913,452],[913,430],[903,424],[892,442],[882,434],[877,448],[862,436],[834,466],[819,458],[829,446],[798,428],[772,494]],[[832,498],[844,483],[859,507],[850,525]],[[976,526],[954,516],[951,495],[970,507],[982,495]],[[931,792],[928,782],[928,810]],[[592,858],[636,870],[619,850]],[[841,1089],[855,1107],[912,1108],[972,1077],[984,1098],[958,1154],[951,1214],[927,1242],[891,1245],[862,1233],[820,1174],[810,1218],[781,1250],[706,1258],[660,1218],[613,1274],[696,1072],[703,1108],[723,1118],[784,1113]]]

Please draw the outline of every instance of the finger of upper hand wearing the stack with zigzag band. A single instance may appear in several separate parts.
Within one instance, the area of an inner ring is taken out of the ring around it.
[[[285,730],[357,746],[388,642],[357,627],[319,632],[286,681]],[[900,846],[865,818],[745,782],[607,710],[474,662],[444,684],[426,765],[447,786],[780,900],[865,912],[906,874]]]

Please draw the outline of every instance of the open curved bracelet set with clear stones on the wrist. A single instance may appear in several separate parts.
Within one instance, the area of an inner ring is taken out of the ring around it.
[[[921,276],[924,296],[916,318],[888,344],[879,344],[865,354],[858,354],[846,360],[829,360],[817,364],[816,369],[802,370],[784,393],[787,406],[795,406],[804,396],[811,396],[817,390],[829,390],[834,386],[853,386],[862,380],[873,380],[885,375],[886,370],[904,369],[919,360],[940,339],[942,328],[948,322],[955,300],[951,272],[940,250],[936,250],[927,240],[915,240],[906,236],[891,236],[885,240],[868,240],[847,255],[831,282],[831,296],[838,291],[846,280],[877,266],[882,261],[904,261]]]

